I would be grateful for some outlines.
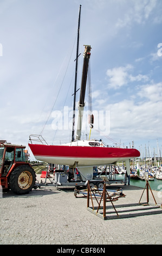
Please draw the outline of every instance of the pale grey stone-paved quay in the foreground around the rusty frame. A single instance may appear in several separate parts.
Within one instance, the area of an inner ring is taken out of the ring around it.
[[[108,189],[118,187],[126,197],[114,205],[138,203],[144,190],[119,184]],[[161,204],[162,192],[153,194]],[[151,192],[149,196],[154,203]],[[146,202],[146,192],[141,202]],[[9,191],[0,207],[1,245],[162,244],[162,214],[104,221],[87,210],[87,198],[74,196],[74,188],[43,187],[24,196]]]

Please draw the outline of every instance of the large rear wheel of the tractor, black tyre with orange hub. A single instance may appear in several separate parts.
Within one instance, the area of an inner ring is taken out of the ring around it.
[[[24,164],[18,166],[10,175],[10,188],[16,194],[27,194],[35,185],[36,174],[34,169]]]

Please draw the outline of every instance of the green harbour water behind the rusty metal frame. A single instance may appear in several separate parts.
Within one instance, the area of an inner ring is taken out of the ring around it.
[[[116,174],[116,179],[121,180],[124,178],[125,178],[125,174]],[[152,190],[162,191],[162,180],[154,179],[148,182]],[[138,179],[130,179],[130,185],[144,188],[146,185],[146,181],[138,180]]]

